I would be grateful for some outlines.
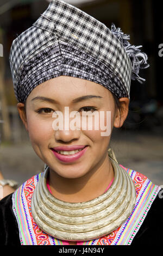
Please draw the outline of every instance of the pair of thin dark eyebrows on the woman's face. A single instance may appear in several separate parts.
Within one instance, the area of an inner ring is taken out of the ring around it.
[[[103,98],[103,97],[97,96],[97,95],[85,95],[85,96],[81,96],[81,97],[78,97],[77,99],[72,100],[72,102],[77,103],[77,102],[84,101],[84,100],[89,100],[89,99],[92,99],[92,98]],[[47,101],[47,102],[51,102],[51,103],[58,103],[58,101],[56,101],[54,99],[51,99],[51,98],[48,98],[48,97],[43,97],[43,96],[36,96],[31,101],[34,101],[34,100]]]

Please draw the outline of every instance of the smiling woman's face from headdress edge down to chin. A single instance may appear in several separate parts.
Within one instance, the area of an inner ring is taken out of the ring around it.
[[[23,117],[22,106],[23,103],[17,105],[21,118]],[[81,117],[80,121],[83,111],[96,110],[99,117],[103,112],[104,118],[101,120],[105,126],[110,125],[111,131],[114,125],[118,126],[120,115],[115,106],[114,97],[108,89],[80,78],[56,77],[40,84],[29,94],[26,100],[26,120],[24,118],[22,120],[35,153],[58,175],[64,178],[80,178],[91,169],[99,168],[108,157],[107,150],[111,135],[102,136],[102,132],[106,130],[101,130],[100,120],[98,130],[95,130],[94,121],[91,130],[87,128],[82,130],[82,121],[81,126],[78,125],[78,130],[71,130],[70,126],[66,130],[65,123],[62,130],[54,130],[52,124],[56,118],[53,117],[53,113],[60,111],[65,117],[65,107],[68,107],[69,113],[77,111],[78,118]],[[111,113],[108,120],[107,111]],[[72,119],[74,118],[69,119],[70,123]],[[59,154],[54,153],[55,147],[74,145],[86,146],[84,154],[77,153],[79,154],[77,159],[66,161],[65,156],[60,158]]]

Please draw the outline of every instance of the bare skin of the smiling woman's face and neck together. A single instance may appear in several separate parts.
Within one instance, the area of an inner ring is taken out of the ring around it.
[[[44,98],[42,98],[42,95],[44,95]],[[50,97],[53,99],[52,101],[49,100]],[[57,101],[54,99],[57,99]],[[123,105],[126,105],[125,111],[127,115],[128,105],[126,102],[128,102],[128,99],[123,102]],[[65,128],[64,130],[54,131],[52,124],[54,120],[53,112],[60,111],[64,114],[65,106],[67,106],[70,112],[77,111],[80,116],[80,109],[83,108],[93,107],[98,112],[103,111],[104,113],[111,111],[111,130],[113,126],[121,126],[122,119],[126,115],[123,114],[120,123],[119,112],[116,111],[114,98],[109,90],[91,81],[60,76],[40,84],[29,94],[26,100],[25,119],[23,118],[25,116],[23,103],[18,103],[17,106],[36,154],[49,166],[49,176],[53,177],[50,179],[50,186],[52,185],[52,191],[54,191],[55,195],[67,202],[70,202],[70,200],[71,202],[76,202],[76,200],[77,202],[78,200],[80,200],[79,202],[84,202],[102,193],[104,187],[107,187],[108,182],[113,178],[113,171],[112,169],[110,170],[110,162],[106,150],[109,147],[110,136],[101,136],[101,130],[95,130],[94,126],[92,130],[85,131],[82,129],[65,130]],[[49,108],[51,112],[42,112],[42,108]],[[106,123],[106,120],[104,121]],[[74,146],[76,149],[80,149],[81,146],[84,149],[80,153],[65,156],[67,150],[74,150]],[[98,152],[99,148],[101,148],[101,154]],[[59,149],[65,152],[55,153],[52,149]],[[101,168],[97,171],[99,166]],[[54,169],[55,172],[53,172]],[[89,178],[87,175],[89,175]],[[96,179],[94,176],[96,176]],[[106,176],[109,177],[109,180],[106,179]],[[62,179],[62,177],[69,179],[80,178],[80,185],[76,181],[76,184],[72,186],[74,180],[68,180],[67,183],[67,180]],[[60,179],[61,181],[59,181]],[[56,182],[57,180],[58,182]],[[84,180],[84,184],[82,180]],[[85,181],[87,181],[86,184]],[[58,188],[55,188],[55,186]],[[63,190],[65,191],[64,193]]]

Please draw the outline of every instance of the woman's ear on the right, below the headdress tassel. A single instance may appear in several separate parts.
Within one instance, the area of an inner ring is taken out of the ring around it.
[[[127,97],[120,98],[120,109],[118,108],[115,115],[114,127],[120,128],[128,115],[129,99]]]

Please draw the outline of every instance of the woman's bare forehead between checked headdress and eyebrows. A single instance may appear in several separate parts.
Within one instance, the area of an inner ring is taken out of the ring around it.
[[[37,96],[51,97],[58,101],[61,99],[72,101],[84,95],[97,95],[106,99],[111,96],[111,93],[108,89],[92,81],[76,77],[59,76],[35,87],[29,94],[27,101]]]

